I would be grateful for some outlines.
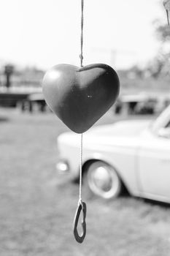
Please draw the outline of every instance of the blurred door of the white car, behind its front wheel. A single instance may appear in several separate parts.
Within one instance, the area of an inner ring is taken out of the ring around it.
[[[138,164],[142,195],[170,202],[170,122],[142,140]]]

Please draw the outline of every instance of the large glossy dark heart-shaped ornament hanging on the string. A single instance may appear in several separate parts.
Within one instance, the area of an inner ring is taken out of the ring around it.
[[[120,83],[115,70],[106,64],[58,64],[46,72],[42,90],[47,105],[63,123],[82,133],[115,103]]]

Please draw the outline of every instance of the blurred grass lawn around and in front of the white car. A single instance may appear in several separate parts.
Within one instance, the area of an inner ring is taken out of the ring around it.
[[[1,256],[169,255],[169,205],[129,196],[87,198],[87,236],[77,244],[79,188],[55,171],[56,137],[66,127],[52,113],[0,109],[0,120]]]

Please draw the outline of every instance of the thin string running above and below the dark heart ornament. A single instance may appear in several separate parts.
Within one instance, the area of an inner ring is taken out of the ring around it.
[[[83,10],[84,10],[84,0],[81,0],[81,37],[80,37],[80,67],[82,67],[82,48],[83,48],[83,23],[84,23],[84,17],[83,17]],[[81,134],[81,140],[80,140],[80,191],[79,191],[79,203],[82,203],[82,134]]]

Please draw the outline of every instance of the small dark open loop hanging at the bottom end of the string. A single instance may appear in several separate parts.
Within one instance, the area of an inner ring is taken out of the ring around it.
[[[81,211],[82,211],[82,235],[80,236],[77,231],[77,225],[79,222]],[[85,223],[86,211],[87,211],[86,204],[84,202],[80,202],[78,204],[77,211],[74,217],[74,238],[80,244],[85,239],[85,234],[86,234],[86,223]]]

